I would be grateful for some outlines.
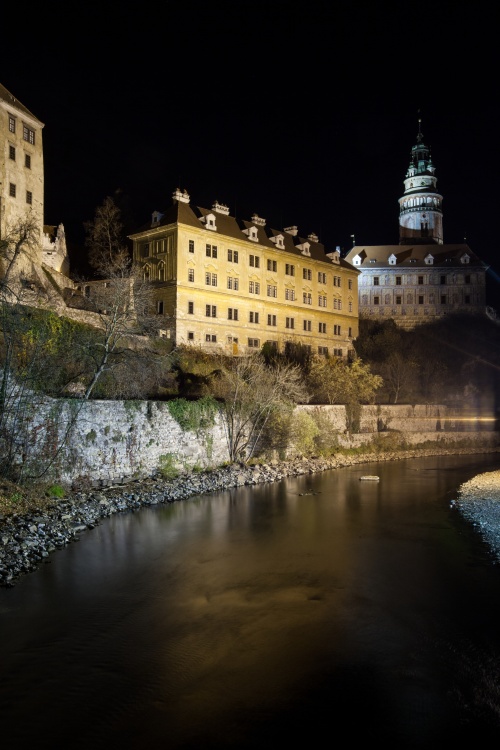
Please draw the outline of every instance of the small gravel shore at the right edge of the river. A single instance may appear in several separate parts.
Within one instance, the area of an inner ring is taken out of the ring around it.
[[[477,528],[500,561],[500,470],[464,482],[453,505]]]

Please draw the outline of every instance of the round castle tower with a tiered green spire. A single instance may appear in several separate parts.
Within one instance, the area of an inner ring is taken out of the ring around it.
[[[399,244],[443,244],[443,196],[437,191],[435,167],[424,143],[418,121],[417,143],[411,150],[410,166],[399,199]]]

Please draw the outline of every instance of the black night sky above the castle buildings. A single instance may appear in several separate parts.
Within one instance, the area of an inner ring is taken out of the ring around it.
[[[444,241],[466,238],[491,265],[489,302],[500,299],[493,7],[69,8],[4,17],[0,80],[45,123],[45,221],[64,224],[72,270],[84,268],[83,222],[107,195],[133,231],[177,187],[195,205],[315,232],[327,251],[347,252],[353,234],[397,244],[421,117]]]

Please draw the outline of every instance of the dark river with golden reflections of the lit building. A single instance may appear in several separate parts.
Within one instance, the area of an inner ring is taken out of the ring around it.
[[[499,460],[365,464],[106,520],[0,589],[2,746],[500,741],[500,565],[450,506]]]

